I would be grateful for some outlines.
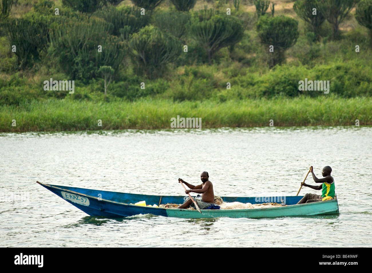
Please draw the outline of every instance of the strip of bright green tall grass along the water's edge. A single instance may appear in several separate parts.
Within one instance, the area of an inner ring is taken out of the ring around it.
[[[0,132],[170,129],[172,117],[202,118],[201,128],[372,125],[372,98],[298,97],[273,100],[94,102],[26,101],[0,106]],[[16,120],[16,126],[12,126]],[[102,126],[98,126],[102,120]]]

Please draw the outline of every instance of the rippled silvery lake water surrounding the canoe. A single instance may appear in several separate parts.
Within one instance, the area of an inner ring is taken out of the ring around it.
[[[371,247],[371,152],[372,127],[355,126],[0,133],[0,247]],[[177,179],[206,170],[216,195],[283,196],[326,165],[338,215],[106,219],[36,183],[184,195]]]

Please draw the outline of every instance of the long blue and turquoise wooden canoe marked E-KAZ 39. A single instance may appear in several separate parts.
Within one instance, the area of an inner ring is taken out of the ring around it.
[[[185,196],[169,195],[143,195],[128,194],[123,192],[99,191],[94,189],[74,188],[68,186],[48,185],[37,181],[40,185],[54,192],[61,198],[90,216],[102,216],[108,218],[121,218],[138,214],[153,214],[165,217],[179,218],[264,218],[282,216],[304,216],[338,214],[339,204],[335,199],[308,204],[295,205],[303,196],[283,196],[286,206],[254,209],[202,209],[201,212],[190,209],[168,209],[157,207],[142,207],[130,205],[140,201],[146,204],[182,204]],[[272,197],[222,197],[225,202],[242,202],[261,204],[269,201]],[[265,199],[266,198],[266,199]],[[278,198],[279,199],[279,198]],[[273,200],[275,201],[275,199]],[[280,201],[278,202],[280,203]]]

